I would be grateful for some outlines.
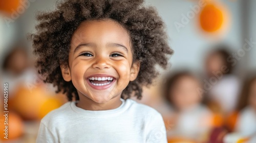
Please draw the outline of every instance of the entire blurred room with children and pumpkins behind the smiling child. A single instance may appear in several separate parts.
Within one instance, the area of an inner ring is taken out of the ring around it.
[[[100,1],[100,0],[99,0]],[[8,83],[9,137],[35,142],[39,122],[67,102],[37,74],[28,33],[57,0],[0,1],[0,81]],[[166,23],[174,50],[167,70],[137,102],[159,111],[168,142],[256,142],[256,1],[145,0]]]

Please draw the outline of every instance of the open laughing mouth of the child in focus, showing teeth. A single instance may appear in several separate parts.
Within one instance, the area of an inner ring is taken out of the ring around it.
[[[106,89],[109,88],[116,79],[111,76],[91,76],[88,78],[89,85],[95,89]]]

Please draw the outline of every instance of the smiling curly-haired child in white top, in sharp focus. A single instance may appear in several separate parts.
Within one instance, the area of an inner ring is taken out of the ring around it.
[[[30,35],[44,81],[70,102],[42,118],[37,142],[167,142],[161,114],[131,99],[166,68],[164,23],[143,1],[63,1]]]

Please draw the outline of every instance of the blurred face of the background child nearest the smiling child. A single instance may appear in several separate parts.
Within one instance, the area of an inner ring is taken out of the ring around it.
[[[200,87],[194,78],[184,76],[178,79],[170,89],[170,95],[174,106],[179,110],[188,109],[200,102],[200,94],[197,89]]]

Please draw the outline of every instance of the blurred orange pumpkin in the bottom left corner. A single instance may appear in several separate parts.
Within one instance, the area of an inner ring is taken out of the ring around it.
[[[24,133],[24,124],[22,121],[22,118],[20,118],[17,114],[14,112],[10,111],[8,113],[8,139],[4,138],[5,137],[5,116],[1,115],[0,116],[0,134],[1,134],[1,139],[2,140],[9,140],[9,139],[15,139],[20,137]]]

